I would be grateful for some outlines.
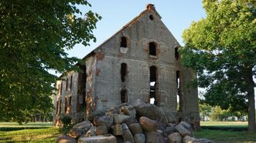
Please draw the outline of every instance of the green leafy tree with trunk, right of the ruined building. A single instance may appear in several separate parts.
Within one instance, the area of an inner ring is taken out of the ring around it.
[[[183,32],[183,64],[193,68],[197,85],[207,88],[210,105],[242,111],[248,131],[255,131],[256,2],[203,0],[206,18]]]

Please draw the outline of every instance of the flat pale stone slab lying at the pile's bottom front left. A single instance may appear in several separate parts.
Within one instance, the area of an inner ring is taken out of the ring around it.
[[[117,143],[113,135],[97,135],[92,137],[79,138],[78,143]]]

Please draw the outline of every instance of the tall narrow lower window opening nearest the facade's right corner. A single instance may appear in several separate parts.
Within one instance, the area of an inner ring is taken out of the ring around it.
[[[177,111],[183,111],[183,94],[180,81],[180,71],[176,71]]]

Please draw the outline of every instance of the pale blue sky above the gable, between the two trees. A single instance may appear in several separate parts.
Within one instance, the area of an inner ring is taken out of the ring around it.
[[[145,6],[149,3],[155,5],[156,11],[162,16],[162,22],[169,28],[180,45],[183,45],[181,35],[184,29],[188,28],[191,22],[205,17],[201,0],[88,0],[88,2],[92,5],[91,8],[80,7],[80,9],[83,12],[90,9],[102,16],[101,21],[97,23],[97,29],[94,30],[97,42],[90,42],[90,46],[87,47],[77,45],[68,51],[70,56],[83,58],[115,32],[118,32],[132,18],[144,11]]]

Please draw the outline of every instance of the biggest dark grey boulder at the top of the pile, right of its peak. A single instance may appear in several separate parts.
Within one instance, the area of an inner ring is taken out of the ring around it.
[[[152,104],[141,105],[136,108],[136,111],[140,116],[145,116],[152,120],[160,121],[162,122],[163,125],[168,124],[168,119],[164,111],[162,111],[161,108],[155,105],[152,105]]]

